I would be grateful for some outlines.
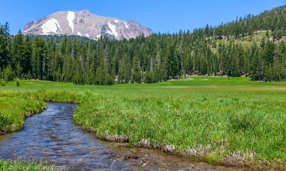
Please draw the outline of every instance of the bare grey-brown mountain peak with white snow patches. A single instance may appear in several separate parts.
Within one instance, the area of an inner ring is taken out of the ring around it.
[[[97,39],[107,35],[110,38],[122,39],[136,37],[144,33],[152,34],[150,28],[146,28],[135,21],[123,21],[113,17],[103,17],[92,14],[87,9],[82,11],[58,11],[37,21],[25,25],[24,35],[48,35],[68,34],[86,36]]]

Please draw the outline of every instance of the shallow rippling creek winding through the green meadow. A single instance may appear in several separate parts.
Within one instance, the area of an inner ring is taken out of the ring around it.
[[[0,135],[1,158],[28,154],[57,166],[72,163],[72,170],[243,170],[103,141],[74,125],[75,104],[47,102],[47,106],[40,114],[26,118],[24,129]]]

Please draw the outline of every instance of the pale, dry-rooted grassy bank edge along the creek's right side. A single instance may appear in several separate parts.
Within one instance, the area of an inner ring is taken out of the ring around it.
[[[81,122],[77,122],[77,125],[81,125]],[[82,129],[85,131],[90,131],[92,133],[96,133],[93,127],[82,126]],[[98,139],[102,139],[105,141],[117,142],[117,143],[130,143],[129,137],[124,135],[104,135],[101,133],[96,133],[96,137]],[[261,160],[255,158],[254,151],[242,152],[241,150],[237,150],[235,152],[229,152],[223,158],[219,158],[218,155],[220,152],[224,152],[226,144],[222,144],[220,149],[215,151],[211,151],[211,145],[198,145],[194,147],[189,147],[188,149],[178,150],[172,144],[164,145],[163,143],[153,143],[148,139],[142,139],[138,143],[130,144],[130,146],[134,146],[135,148],[147,148],[154,150],[161,150],[168,154],[190,157],[197,160],[203,160],[209,164],[213,165],[225,165],[225,166],[236,166],[242,167],[246,170],[248,169],[269,169],[269,170],[285,170],[286,167],[279,160],[276,162],[269,162],[267,160]]]

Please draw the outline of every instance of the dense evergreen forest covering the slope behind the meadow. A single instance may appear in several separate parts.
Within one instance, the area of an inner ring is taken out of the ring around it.
[[[74,84],[155,83],[186,74],[286,79],[286,6],[208,26],[145,37],[87,40],[78,36],[10,36],[0,27],[0,80],[39,79]],[[261,42],[252,38],[259,31]],[[270,34],[271,33],[271,34]],[[271,35],[271,36],[270,36]],[[248,36],[248,46],[239,40]],[[219,40],[226,39],[227,43]]]

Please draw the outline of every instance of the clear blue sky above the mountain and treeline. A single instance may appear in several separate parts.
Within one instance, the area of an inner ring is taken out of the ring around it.
[[[286,0],[240,0],[240,1],[79,1],[79,0],[28,0],[2,1],[0,23],[9,22],[10,34],[23,30],[26,23],[48,16],[56,11],[80,11],[116,17],[125,21],[134,20],[149,27],[153,32],[192,31],[194,28],[218,25],[235,20],[245,14],[259,14],[264,10],[285,5]]]

